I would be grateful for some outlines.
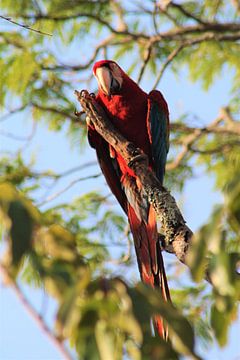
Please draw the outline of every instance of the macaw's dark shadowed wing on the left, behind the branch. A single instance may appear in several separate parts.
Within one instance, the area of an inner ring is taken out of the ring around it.
[[[118,166],[117,160],[110,156],[109,144],[97,133],[96,130],[91,128],[88,129],[88,141],[96,150],[98,162],[108,186],[117,198],[123,210],[127,212],[127,199],[120,182],[122,175],[121,170]]]

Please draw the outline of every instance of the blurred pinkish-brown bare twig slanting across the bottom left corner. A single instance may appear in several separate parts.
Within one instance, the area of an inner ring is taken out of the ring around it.
[[[21,302],[21,304],[28,312],[28,314],[31,316],[31,318],[35,321],[35,323],[39,326],[43,334],[53,343],[53,345],[58,349],[58,351],[61,353],[64,359],[72,360],[72,356],[64,347],[62,341],[57,337],[57,335],[53,333],[53,331],[45,323],[42,316],[39,315],[37,311],[33,308],[33,306],[29,303],[28,299],[24,296],[18,284],[12,279],[7,268],[1,262],[0,262],[0,272],[2,273],[4,281],[7,281],[7,283],[10,284],[18,300]]]

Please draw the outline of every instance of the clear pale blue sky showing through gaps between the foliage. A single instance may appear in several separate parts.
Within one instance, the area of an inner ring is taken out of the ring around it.
[[[124,64],[122,64],[124,67]],[[196,64],[197,66],[197,64]],[[219,108],[227,105],[230,97],[229,84],[232,74],[225,72],[215,85],[207,92],[203,92],[199,83],[191,83],[187,78],[187,72],[182,71],[178,79],[168,71],[160,84],[170,108],[171,118],[185,112],[191,112],[201,119],[201,123],[207,124],[217,117]],[[150,90],[151,84],[147,76],[143,81],[143,88]],[[82,85],[77,84],[79,88]],[[93,88],[94,89],[94,88]],[[93,90],[89,89],[89,90]],[[74,95],[72,96],[75,102]],[[74,105],[73,105],[74,109]],[[30,133],[31,121],[27,113],[14,116],[10,121],[0,123],[0,131],[11,132],[18,135]],[[66,138],[66,126],[59,133],[49,132],[46,125],[38,124],[33,143],[24,150],[24,157],[29,159],[32,151],[35,153],[35,168],[47,170],[49,168],[61,172],[68,168],[85,163],[86,160],[94,160],[94,152],[87,149],[84,155],[80,155],[79,149],[72,148],[69,139]],[[81,139],[79,139],[81,141]],[[14,151],[19,143],[7,137],[0,137],[1,149]],[[214,190],[212,178],[204,175],[202,169],[195,169],[196,177],[188,180],[184,194],[177,195],[183,214],[188,225],[196,230],[207,221],[213,204],[221,201],[221,196]],[[88,174],[95,173],[96,168],[88,169]],[[84,174],[86,175],[86,173]],[[64,188],[76,175],[69,176],[53,189],[53,193]],[[69,191],[65,192],[55,201],[71,201],[76,196],[87,191],[105,189],[103,178],[78,183]],[[137,269],[136,269],[137,272]],[[41,308],[43,301],[42,292],[30,290],[25,287],[25,292],[30,301],[37,309]],[[50,322],[54,315],[54,303],[48,306],[47,319]],[[204,359],[207,360],[237,360],[240,358],[240,343],[237,340],[240,333],[240,325],[235,323],[230,332],[228,346],[222,350],[214,344],[211,349],[201,349]],[[0,359],[1,360],[58,360],[62,359],[58,351],[49,343],[49,340],[41,333],[37,325],[26,314],[22,305],[16,299],[10,288],[0,287]]]

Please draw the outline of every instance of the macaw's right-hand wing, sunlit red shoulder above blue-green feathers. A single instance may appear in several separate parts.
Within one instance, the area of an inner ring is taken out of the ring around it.
[[[157,90],[148,95],[147,129],[154,170],[159,181],[163,183],[169,149],[169,112],[163,95]]]

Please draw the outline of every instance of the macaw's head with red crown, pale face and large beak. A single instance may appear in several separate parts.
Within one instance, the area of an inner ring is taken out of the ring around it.
[[[125,73],[115,61],[101,60],[94,64],[93,74],[97,79],[99,91],[107,96],[121,93]]]

